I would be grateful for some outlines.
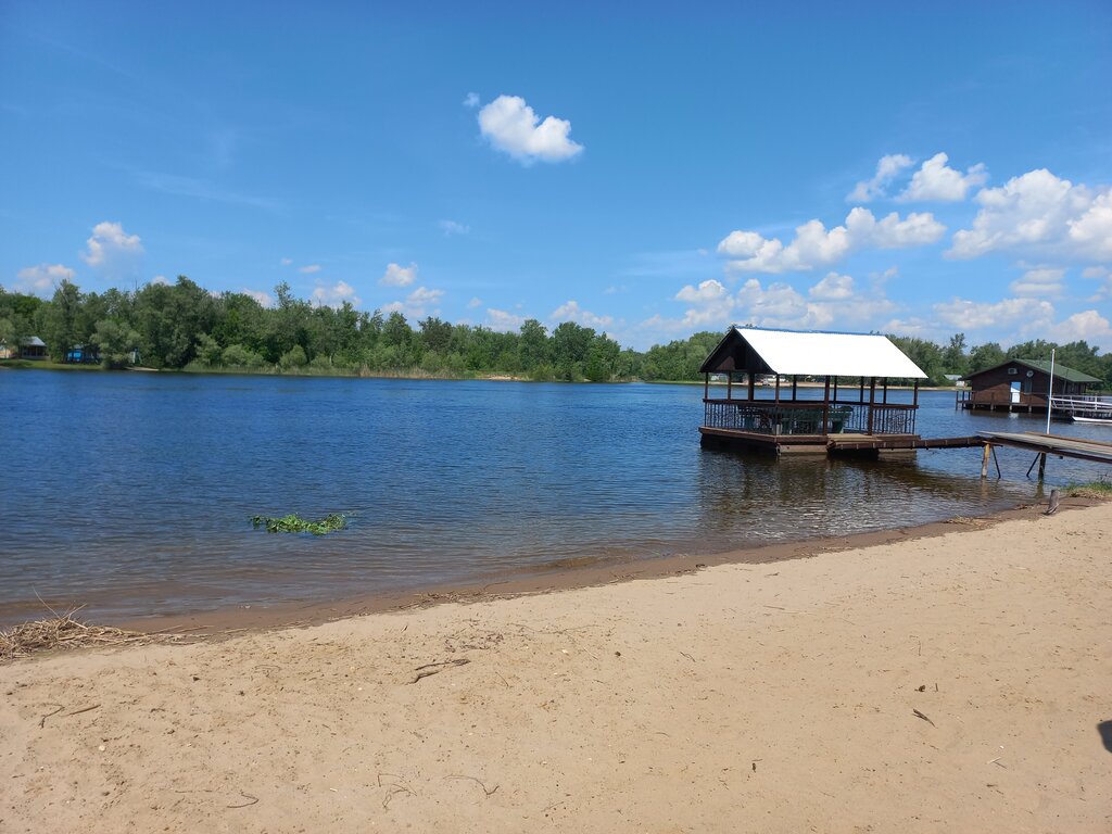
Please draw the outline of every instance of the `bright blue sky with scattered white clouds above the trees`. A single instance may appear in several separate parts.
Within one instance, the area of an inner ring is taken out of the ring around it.
[[[0,0],[0,285],[1112,350],[1106,1],[318,6]]]

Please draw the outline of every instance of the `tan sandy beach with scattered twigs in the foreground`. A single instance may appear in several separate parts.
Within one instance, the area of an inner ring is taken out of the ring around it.
[[[3,832],[1112,831],[1112,505],[0,666]]]

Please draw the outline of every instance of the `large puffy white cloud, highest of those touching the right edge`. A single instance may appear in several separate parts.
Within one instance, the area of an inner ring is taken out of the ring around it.
[[[973,227],[954,232],[949,257],[1014,251],[1112,259],[1112,192],[1106,186],[1074,186],[1041,168],[983,189],[975,199],[981,208]]]

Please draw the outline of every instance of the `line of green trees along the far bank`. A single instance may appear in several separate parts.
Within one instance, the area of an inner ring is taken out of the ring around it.
[[[169,370],[238,370],[321,374],[506,374],[536,380],[696,380],[699,366],[722,339],[696,332],[646,351],[623,349],[606,334],[565,321],[548,330],[537,319],[517,331],[453,325],[428,316],[411,325],[399,311],[314,306],[287,284],[265,307],[242,292],[212,294],[185,276],[133,292],[82,292],[62,281],[49,300],[0,287],[0,344],[39,336],[50,357],[63,361],[76,348],[108,368],[129,364]],[[1013,357],[1056,360],[1112,387],[1112,354],[1085,341],[1037,340],[1004,349],[967,347],[964,334],[947,345],[891,337],[935,385]]]

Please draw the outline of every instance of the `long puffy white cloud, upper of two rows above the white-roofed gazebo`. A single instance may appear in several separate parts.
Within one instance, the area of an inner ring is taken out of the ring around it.
[[[855,207],[846,216],[845,226],[827,230],[822,221],[810,220],[796,227],[795,239],[786,247],[778,238],[732,231],[718,244],[718,254],[733,259],[728,264],[732,270],[775,275],[830,266],[870,247],[898,249],[933,244],[945,230],[930,212],[913,212],[901,220],[893,211],[877,220],[868,209]]]

